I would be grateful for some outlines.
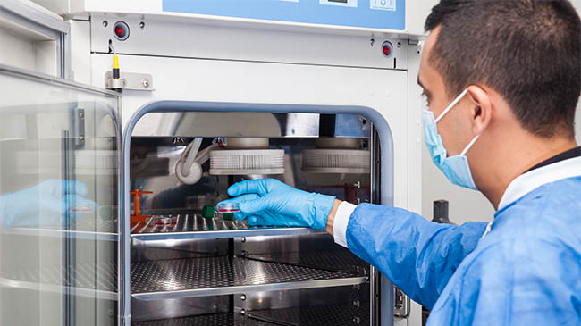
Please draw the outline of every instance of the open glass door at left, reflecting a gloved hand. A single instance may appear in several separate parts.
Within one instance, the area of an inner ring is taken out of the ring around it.
[[[113,325],[120,97],[0,66],[0,326]]]

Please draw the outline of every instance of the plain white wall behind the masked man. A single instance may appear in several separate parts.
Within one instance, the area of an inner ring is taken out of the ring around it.
[[[573,0],[577,13],[581,13],[581,0]],[[581,103],[577,104],[577,143],[581,144]],[[438,168],[434,166],[427,150],[422,154],[422,214],[429,220],[433,218],[434,200],[450,201],[450,220],[457,224],[468,221],[493,221],[494,208],[477,191],[452,185]]]

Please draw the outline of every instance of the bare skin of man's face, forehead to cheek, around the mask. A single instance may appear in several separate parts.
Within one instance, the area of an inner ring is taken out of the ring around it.
[[[442,76],[435,71],[430,63],[430,54],[437,41],[440,28],[434,29],[425,40],[424,51],[419,66],[417,80],[424,88],[425,100],[430,111],[434,113],[434,118],[444,111],[444,109],[459,94],[448,96],[444,87]],[[469,101],[466,96],[459,101],[444,117],[438,121],[438,133],[442,136],[442,142],[446,147],[448,155],[459,155],[468,145],[472,138],[469,113],[467,109]]]

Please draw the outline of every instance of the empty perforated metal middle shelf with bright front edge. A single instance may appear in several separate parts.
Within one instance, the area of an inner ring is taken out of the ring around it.
[[[361,284],[365,276],[240,257],[131,263],[131,296],[141,300]]]

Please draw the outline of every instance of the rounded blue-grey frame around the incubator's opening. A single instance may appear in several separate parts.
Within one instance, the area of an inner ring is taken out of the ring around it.
[[[359,114],[365,116],[373,123],[377,140],[381,144],[379,162],[381,169],[377,179],[381,180],[377,185],[381,188],[379,200],[382,205],[393,205],[394,193],[394,147],[392,130],[383,115],[375,109],[357,105],[307,105],[307,104],[265,104],[265,103],[221,103],[221,102],[195,102],[195,101],[156,101],[145,104],[131,115],[123,129],[122,137],[122,195],[124,216],[130,216],[130,152],[131,135],[139,119],[147,113],[181,113],[181,112],[245,112],[245,113],[328,113],[328,114]],[[122,219],[121,231],[121,279],[130,280],[131,277],[131,227],[129,219]],[[373,275],[379,275],[372,269]],[[371,305],[370,314],[381,313],[381,325],[392,325],[393,322],[393,285],[385,276],[375,279],[372,277],[372,297],[380,300],[380,305]],[[379,280],[379,281],[378,281]],[[379,283],[379,284],[377,284]],[[119,288],[120,302],[122,302],[120,315],[122,325],[131,324],[131,283],[126,282]],[[376,311],[379,309],[379,311]]]

